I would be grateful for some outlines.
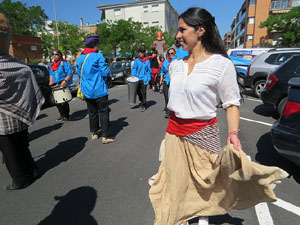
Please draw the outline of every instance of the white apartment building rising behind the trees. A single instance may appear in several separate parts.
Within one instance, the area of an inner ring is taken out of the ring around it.
[[[168,0],[136,0],[135,2],[99,5],[102,10],[101,20],[117,21],[120,19],[141,22],[144,26],[159,26],[162,31],[176,31],[178,13]]]

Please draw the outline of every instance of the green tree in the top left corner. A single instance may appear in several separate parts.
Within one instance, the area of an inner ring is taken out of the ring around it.
[[[38,28],[44,26],[48,16],[40,6],[27,7],[20,1],[3,0],[0,12],[8,19],[13,34],[35,35]]]

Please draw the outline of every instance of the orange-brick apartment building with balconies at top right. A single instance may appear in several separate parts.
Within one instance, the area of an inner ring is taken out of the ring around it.
[[[287,13],[300,6],[300,0],[245,0],[231,24],[230,48],[255,48],[276,45],[280,33],[259,28],[269,15]]]

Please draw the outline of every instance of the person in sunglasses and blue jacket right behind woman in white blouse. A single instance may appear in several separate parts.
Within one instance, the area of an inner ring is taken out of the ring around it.
[[[170,77],[169,77],[169,67],[172,62],[172,59],[174,58],[176,54],[176,51],[174,48],[170,48],[167,51],[167,60],[163,62],[163,65],[161,67],[160,75],[163,77],[163,80],[161,80],[161,83],[163,85],[163,94],[165,98],[165,118],[170,117],[170,110],[167,108],[168,102],[169,102],[169,85],[170,85]]]

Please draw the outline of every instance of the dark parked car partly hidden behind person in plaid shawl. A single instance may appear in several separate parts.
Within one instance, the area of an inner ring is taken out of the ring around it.
[[[28,66],[31,68],[35,79],[40,87],[40,90],[45,98],[45,104],[53,105],[50,99],[52,91],[51,87],[49,86],[49,71],[47,67],[37,64],[29,64]]]

